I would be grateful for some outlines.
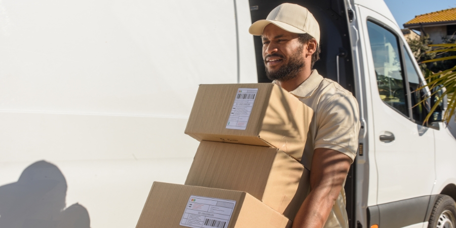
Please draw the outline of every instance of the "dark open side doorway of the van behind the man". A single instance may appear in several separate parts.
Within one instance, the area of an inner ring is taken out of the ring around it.
[[[353,15],[347,10],[344,0],[249,0],[250,15],[252,22],[266,19],[268,14],[282,3],[298,4],[309,9],[320,25],[320,60],[314,68],[323,75],[323,77],[339,82],[341,86],[354,91],[354,65],[352,58],[349,21]],[[264,63],[262,59],[262,42],[259,36],[254,36],[256,69],[258,72],[258,83],[269,83],[266,77]],[[355,95],[356,96],[356,95]],[[354,163],[355,164],[355,163]],[[349,226],[356,227],[354,221],[355,205],[355,172],[354,165],[350,168],[345,184],[347,194],[347,213],[349,217]]]

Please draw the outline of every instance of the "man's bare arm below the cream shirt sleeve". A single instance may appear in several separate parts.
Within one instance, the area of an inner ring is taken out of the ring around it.
[[[321,228],[337,199],[351,159],[332,149],[314,150],[310,172],[311,192],[293,221],[293,228]]]

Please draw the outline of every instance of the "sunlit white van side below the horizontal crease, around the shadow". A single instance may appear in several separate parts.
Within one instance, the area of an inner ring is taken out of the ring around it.
[[[12,198],[2,186],[45,160],[66,180],[66,207],[82,205],[91,227],[134,227],[151,184],[183,184],[198,146],[183,134],[186,119],[0,112],[0,120],[0,201]]]

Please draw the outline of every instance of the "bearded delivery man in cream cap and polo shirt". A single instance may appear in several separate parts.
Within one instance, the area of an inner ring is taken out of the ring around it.
[[[348,228],[344,184],[358,148],[358,103],[312,70],[320,52],[318,22],[306,8],[282,4],[249,32],[261,35],[268,78],[314,110],[301,160],[311,170],[311,191],[293,228]]]

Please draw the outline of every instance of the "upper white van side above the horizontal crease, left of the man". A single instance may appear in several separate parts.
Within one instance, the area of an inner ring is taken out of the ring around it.
[[[186,117],[199,84],[237,82],[233,1],[2,7],[1,110]]]

